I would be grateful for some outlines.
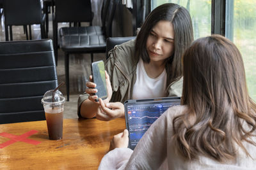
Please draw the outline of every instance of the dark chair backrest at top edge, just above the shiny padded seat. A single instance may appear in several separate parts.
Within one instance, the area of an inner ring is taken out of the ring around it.
[[[55,0],[56,22],[92,22],[91,0]]]

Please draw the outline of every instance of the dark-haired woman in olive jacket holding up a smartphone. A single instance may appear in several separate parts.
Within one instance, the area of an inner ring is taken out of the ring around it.
[[[135,40],[116,46],[106,61],[108,97],[95,102],[97,85],[87,82],[79,96],[79,117],[112,120],[124,117],[124,101],[181,96],[182,53],[193,41],[186,8],[173,3],[154,9]],[[93,89],[95,88],[95,89]]]

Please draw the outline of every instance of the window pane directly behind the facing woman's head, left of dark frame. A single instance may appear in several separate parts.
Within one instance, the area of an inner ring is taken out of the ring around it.
[[[211,35],[211,0],[152,0],[151,9],[164,3],[180,4],[189,11],[195,39]]]

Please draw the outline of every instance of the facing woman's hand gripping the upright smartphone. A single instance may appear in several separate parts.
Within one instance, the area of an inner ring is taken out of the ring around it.
[[[108,97],[107,99],[104,99],[104,102],[109,103],[112,97],[112,87],[109,80],[109,75],[106,71],[105,71],[105,76],[106,76],[106,87],[107,87]],[[88,89],[86,89],[85,92],[87,94],[90,94],[88,99],[90,99],[90,101],[96,102],[95,99],[97,99],[98,96],[96,96],[95,93],[97,93],[98,90],[96,89],[97,85],[92,82],[92,75],[90,75],[90,81],[86,82],[86,87],[88,87]]]

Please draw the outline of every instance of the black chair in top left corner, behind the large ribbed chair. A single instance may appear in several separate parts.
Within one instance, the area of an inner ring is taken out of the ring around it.
[[[40,24],[41,38],[45,38],[45,15],[42,13],[40,0],[4,0],[4,27],[5,39],[9,40],[8,27],[10,27],[10,40],[12,41],[12,25],[29,25],[31,39],[32,24]]]

